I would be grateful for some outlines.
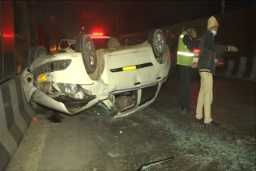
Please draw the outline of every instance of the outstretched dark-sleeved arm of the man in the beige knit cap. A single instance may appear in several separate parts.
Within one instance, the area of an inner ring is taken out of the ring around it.
[[[206,35],[206,48],[210,49],[213,52],[229,52],[230,46],[222,46],[214,43],[213,38],[210,35]]]

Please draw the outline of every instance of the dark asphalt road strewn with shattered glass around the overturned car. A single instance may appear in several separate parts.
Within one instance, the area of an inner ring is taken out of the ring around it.
[[[192,108],[198,90],[194,79]],[[96,106],[74,117],[60,114],[54,123],[46,118],[58,113],[42,109],[6,170],[130,171],[168,157],[174,159],[146,170],[256,170],[255,94],[256,82],[214,77],[218,127],[177,109],[177,71],[152,105],[128,117],[107,117]]]

